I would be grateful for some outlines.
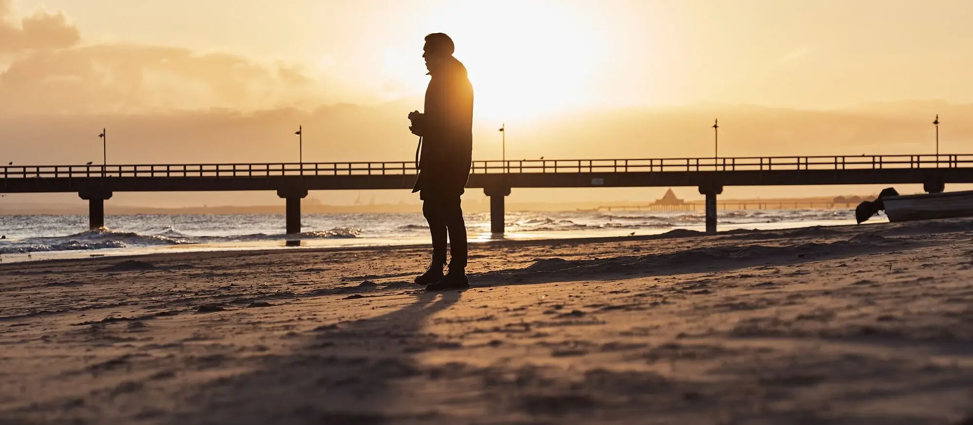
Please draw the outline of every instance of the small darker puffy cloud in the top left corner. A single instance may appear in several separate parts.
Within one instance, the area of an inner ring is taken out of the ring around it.
[[[0,0],[0,55],[69,48],[81,41],[78,28],[61,12],[38,11],[19,24],[11,22],[12,17],[11,0]]]

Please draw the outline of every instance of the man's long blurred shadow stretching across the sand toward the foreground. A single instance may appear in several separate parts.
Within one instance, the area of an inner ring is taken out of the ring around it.
[[[301,336],[302,348],[257,358],[256,371],[207,382],[169,423],[351,425],[435,414],[411,410],[401,380],[423,373],[419,353],[450,348],[422,328],[461,296],[419,292],[387,314],[320,326]]]

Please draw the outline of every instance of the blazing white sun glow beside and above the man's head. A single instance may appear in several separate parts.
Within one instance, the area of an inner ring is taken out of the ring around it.
[[[478,121],[528,119],[590,101],[598,34],[564,4],[454,2],[423,22],[426,31],[445,32],[455,42],[455,56],[473,84]]]

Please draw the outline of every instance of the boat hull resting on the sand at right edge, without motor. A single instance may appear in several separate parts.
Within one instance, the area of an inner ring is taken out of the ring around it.
[[[888,196],[882,201],[889,222],[973,217],[973,191]]]

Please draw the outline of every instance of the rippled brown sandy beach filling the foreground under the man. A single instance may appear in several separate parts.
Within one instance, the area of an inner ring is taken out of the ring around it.
[[[0,424],[971,424],[973,221],[0,266]]]

